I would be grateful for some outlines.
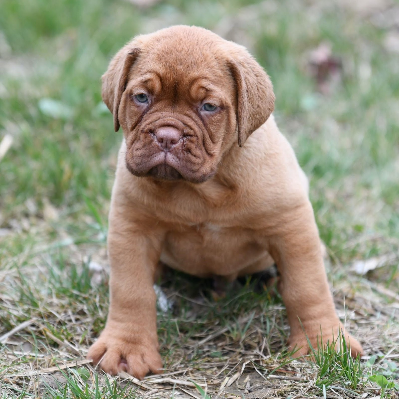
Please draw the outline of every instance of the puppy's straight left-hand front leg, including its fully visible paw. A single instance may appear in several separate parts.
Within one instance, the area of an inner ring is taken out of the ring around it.
[[[127,371],[142,379],[150,371],[160,373],[162,367],[153,289],[162,238],[155,229],[140,227],[132,213],[133,209],[122,204],[111,205],[109,313],[105,329],[87,358],[100,363],[107,373]]]

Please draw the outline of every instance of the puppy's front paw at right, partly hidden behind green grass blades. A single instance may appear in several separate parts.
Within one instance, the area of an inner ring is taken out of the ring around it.
[[[343,326],[340,324],[334,327],[322,327],[321,329],[320,325],[318,325],[318,328],[307,328],[305,331],[307,332],[306,335],[304,330],[297,330],[288,339],[288,350],[295,351],[293,354],[295,358],[312,354],[313,351],[310,346],[317,351],[318,348],[326,348],[327,344],[329,344],[329,346],[335,345],[336,350],[339,350],[342,338],[345,338],[352,358],[357,358],[359,355],[363,356],[364,354],[361,344],[350,334],[343,332]],[[340,331],[341,333],[339,333]]]

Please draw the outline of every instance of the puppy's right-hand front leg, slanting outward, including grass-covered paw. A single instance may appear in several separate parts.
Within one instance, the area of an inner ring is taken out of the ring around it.
[[[269,245],[281,275],[279,289],[291,328],[290,349],[299,349],[296,356],[309,352],[305,333],[315,349],[318,340],[320,342],[320,332],[323,344],[328,340],[331,344],[344,327],[328,287],[320,238],[308,201],[286,214]],[[361,345],[346,332],[344,334],[352,356],[356,357],[361,353]]]

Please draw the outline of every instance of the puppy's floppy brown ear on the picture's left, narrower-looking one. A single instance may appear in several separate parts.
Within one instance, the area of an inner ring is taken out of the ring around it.
[[[140,54],[140,49],[123,47],[111,60],[107,72],[104,73],[102,97],[108,109],[114,115],[115,132],[119,130],[118,111],[120,99],[129,80],[130,69]]]

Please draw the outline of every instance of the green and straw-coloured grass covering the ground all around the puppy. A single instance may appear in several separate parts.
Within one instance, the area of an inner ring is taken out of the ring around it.
[[[12,146],[0,159],[0,337],[17,330],[0,344],[1,399],[397,397],[399,53],[387,38],[399,3],[357,4],[2,0],[0,142]],[[107,314],[121,140],[100,77],[132,36],[171,24],[246,45],[271,75],[275,116],[310,177],[338,313],[365,360],[332,346],[314,363],[292,360],[278,296],[251,280],[218,298],[174,273],[160,282],[173,303],[158,314],[165,373],[138,388],[84,363]],[[320,43],[342,65],[323,82],[310,65]],[[357,275],[354,262],[367,259],[381,267]]]

